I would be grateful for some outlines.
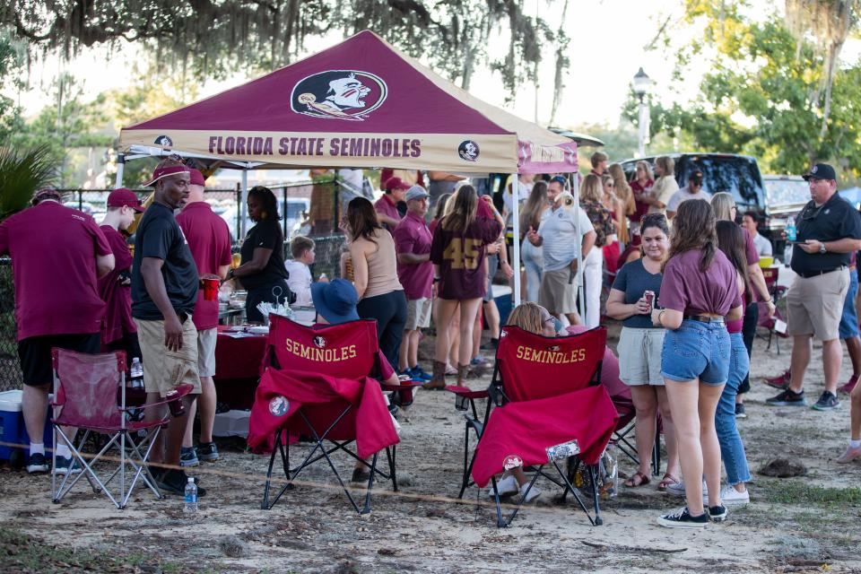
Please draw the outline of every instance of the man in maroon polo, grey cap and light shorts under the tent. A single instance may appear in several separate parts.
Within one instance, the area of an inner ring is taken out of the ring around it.
[[[424,222],[430,195],[422,186],[406,192],[406,215],[397,224],[395,249],[397,278],[406,295],[406,325],[401,343],[398,368],[413,379],[431,380],[431,375],[419,366],[421,329],[431,326],[433,293],[433,264],[431,263],[431,231]]]

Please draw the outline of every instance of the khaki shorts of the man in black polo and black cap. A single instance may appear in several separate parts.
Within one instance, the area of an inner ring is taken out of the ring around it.
[[[787,334],[839,338],[843,302],[849,289],[846,268],[813,277],[798,275],[787,293]]]

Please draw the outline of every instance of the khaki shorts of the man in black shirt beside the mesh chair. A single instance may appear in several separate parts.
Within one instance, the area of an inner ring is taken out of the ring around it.
[[[197,328],[191,317],[182,324],[182,348],[169,351],[164,346],[164,321],[135,319],[137,339],[143,358],[143,387],[147,393],[166,396],[182,384],[194,386],[200,394],[197,374]]]

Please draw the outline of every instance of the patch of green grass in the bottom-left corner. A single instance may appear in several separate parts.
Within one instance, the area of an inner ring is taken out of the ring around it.
[[[120,573],[138,571],[144,563],[157,565],[164,572],[188,571],[179,564],[152,559],[141,552],[116,556],[91,549],[54,546],[6,526],[0,526],[0,556],[3,556],[4,572]]]

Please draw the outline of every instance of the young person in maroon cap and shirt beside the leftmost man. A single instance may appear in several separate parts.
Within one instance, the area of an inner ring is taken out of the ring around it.
[[[135,213],[143,213],[135,192],[125,187],[114,189],[108,196],[108,213],[100,229],[108,239],[114,254],[114,270],[99,280],[99,296],[105,301],[105,320],[101,326],[101,347],[108,351],[125,351],[126,361],[141,358],[137,343],[137,326],[132,319],[132,253],[126,237],[120,231],[135,221]]]

